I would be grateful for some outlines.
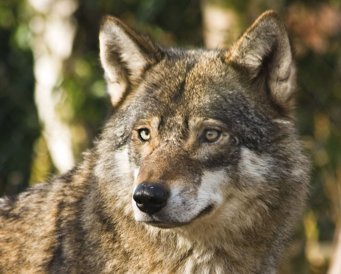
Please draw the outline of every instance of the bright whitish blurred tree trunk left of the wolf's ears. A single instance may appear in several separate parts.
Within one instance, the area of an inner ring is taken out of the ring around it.
[[[33,8],[30,28],[34,54],[35,103],[43,124],[43,135],[55,167],[64,172],[74,164],[71,132],[60,118],[57,105],[63,61],[70,57],[75,34],[74,0],[29,0]]]

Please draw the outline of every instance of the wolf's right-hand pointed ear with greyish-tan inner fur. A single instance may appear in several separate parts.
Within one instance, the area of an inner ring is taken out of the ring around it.
[[[295,67],[285,26],[276,12],[258,17],[226,59],[246,70],[251,80],[263,77],[272,101],[292,112]]]

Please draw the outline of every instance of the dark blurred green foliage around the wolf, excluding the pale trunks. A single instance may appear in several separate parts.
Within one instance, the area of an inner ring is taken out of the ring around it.
[[[276,3],[275,3],[276,2]],[[246,28],[276,6],[291,34],[298,71],[297,118],[313,163],[311,195],[283,273],[326,273],[340,214],[340,0],[212,0],[234,9]],[[257,7],[257,9],[253,7]],[[76,159],[100,132],[109,110],[98,58],[101,17],[111,14],[172,46],[202,46],[203,1],[82,0],[65,61],[58,112],[73,133]],[[24,0],[0,2],[0,194],[15,194],[55,172],[34,103],[32,10]]]

